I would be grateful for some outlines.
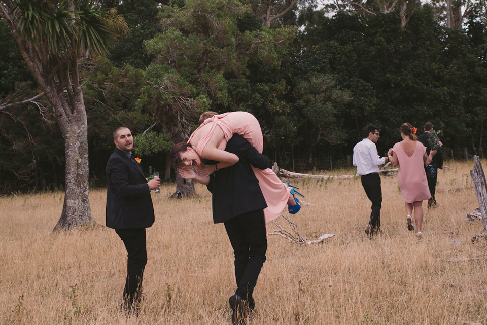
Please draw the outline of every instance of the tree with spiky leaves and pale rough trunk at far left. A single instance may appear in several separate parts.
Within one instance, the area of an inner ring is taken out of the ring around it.
[[[7,21],[34,80],[44,92],[64,139],[65,195],[54,230],[92,223],[88,188],[87,115],[80,62],[108,53],[123,17],[105,12],[93,0],[0,0]]]

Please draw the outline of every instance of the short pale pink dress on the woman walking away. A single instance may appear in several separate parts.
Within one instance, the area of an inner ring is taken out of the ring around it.
[[[420,141],[416,141],[416,148],[411,157],[406,155],[399,142],[393,149],[399,160],[398,178],[402,200],[405,203],[428,200],[431,194],[423,161],[426,147]]]

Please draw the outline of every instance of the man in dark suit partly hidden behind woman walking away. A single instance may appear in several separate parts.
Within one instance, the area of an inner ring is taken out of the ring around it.
[[[429,155],[431,146],[428,139],[433,131],[433,124],[431,122],[426,122],[424,130],[425,132],[418,136],[418,141],[423,143],[423,145],[426,147],[426,154]],[[438,168],[443,169],[443,153],[441,152],[441,148],[439,148],[436,155],[433,156],[431,163],[425,166],[426,178],[428,179],[428,187],[431,194],[431,198],[428,200],[428,208],[435,208],[438,206],[435,199]]]

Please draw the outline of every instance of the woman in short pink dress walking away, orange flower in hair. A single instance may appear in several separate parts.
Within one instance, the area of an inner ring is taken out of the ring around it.
[[[426,147],[416,140],[415,128],[409,123],[401,125],[402,141],[389,149],[387,156],[394,167],[399,165],[399,189],[406,206],[407,229],[414,230],[412,225],[412,211],[418,232],[416,237],[423,238],[423,200],[431,197],[424,165],[429,165],[436,150],[426,155]],[[394,155],[393,155],[394,154]]]

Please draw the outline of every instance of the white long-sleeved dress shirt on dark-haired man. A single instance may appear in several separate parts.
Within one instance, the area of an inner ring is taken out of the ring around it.
[[[359,175],[367,175],[379,172],[379,167],[386,162],[386,158],[380,158],[377,154],[375,143],[369,139],[362,139],[354,147],[354,166],[357,166]]]

